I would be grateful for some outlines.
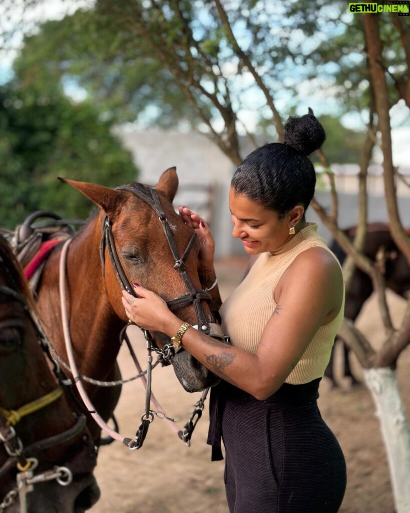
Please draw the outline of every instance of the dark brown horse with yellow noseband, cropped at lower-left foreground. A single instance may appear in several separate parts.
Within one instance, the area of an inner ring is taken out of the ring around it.
[[[58,386],[58,368],[50,370],[34,316],[28,283],[0,235],[0,511],[82,513],[99,498],[95,448],[85,416]]]

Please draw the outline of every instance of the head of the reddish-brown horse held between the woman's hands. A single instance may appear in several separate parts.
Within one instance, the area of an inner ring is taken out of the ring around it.
[[[132,291],[130,283],[137,282],[166,300],[178,317],[212,334],[214,319],[205,301],[209,294],[202,289],[198,277],[199,243],[172,206],[178,188],[175,168],[162,173],[154,188],[134,183],[112,190],[60,180],[98,205],[101,226],[110,227],[112,250],[104,244],[104,234],[100,244],[104,274],[101,279],[105,280],[106,293],[118,318],[128,321],[121,303],[121,287]],[[112,264],[109,254],[113,251]],[[158,347],[170,343],[163,333],[154,332],[152,337]],[[175,354],[172,365],[179,382],[189,392],[219,381],[185,350]]]

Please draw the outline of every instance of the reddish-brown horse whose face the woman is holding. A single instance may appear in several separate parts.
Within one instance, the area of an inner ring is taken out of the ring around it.
[[[197,271],[199,243],[194,241],[193,230],[183,223],[172,206],[178,187],[175,168],[165,171],[154,189],[131,184],[112,190],[96,184],[61,181],[75,187],[100,207],[98,215],[74,236],[67,251],[69,329],[80,374],[98,380],[118,379],[119,333],[128,321],[121,304],[119,271],[113,268],[107,245],[101,245],[102,225],[109,225],[112,230],[117,264],[126,275],[123,281],[128,279],[153,290],[173,305],[183,320],[200,329],[213,322],[208,304],[201,299],[209,294],[203,295],[203,290],[202,295],[198,293],[202,289]],[[159,207],[146,196],[157,196]],[[158,209],[163,210],[159,215]],[[175,243],[173,251],[170,236]],[[175,252],[186,258],[181,257],[176,262]],[[43,270],[37,289],[37,306],[56,351],[67,361],[59,311],[60,257],[61,245],[52,251]],[[191,283],[188,289],[187,279]],[[198,313],[198,308],[202,313]],[[153,337],[159,347],[170,342],[162,333],[153,333]],[[214,374],[186,351],[176,353],[172,365],[183,388],[190,392],[218,382]],[[119,397],[119,388],[90,384],[85,387],[99,415],[109,419]],[[100,429],[94,421],[90,421],[89,427],[98,443]]]

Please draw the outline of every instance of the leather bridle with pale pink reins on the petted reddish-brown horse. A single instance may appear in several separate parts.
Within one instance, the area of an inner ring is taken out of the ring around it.
[[[185,269],[185,263],[191,253],[192,248],[194,247],[194,244],[197,239],[196,233],[193,233],[191,236],[191,239],[187,245],[186,250],[183,252],[181,257],[179,256],[178,249],[172,234],[171,226],[168,222],[167,216],[165,212],[162,209],[158,193],[155,189],[144,186],[142,184],[134,184],[134,185],[126,185],[126,186],[120,186],[117,187],[115,190],[124,190],[133,193],[135,196],[137,196],[139,199],[147,203],[154,212],[158,215],[158,219],[161,222],[163,232],[165,234],[166,240],[168,242],[168,245],[171,249],[172,255],[174,257],[174,268],[178,270],[183,282],[185,283],[188,292],[185,294],[181,294],[179,297],[167,301],[167,305],[170,308],[179,307],[182,305],[193,303],[197,315],[198,325],[193,326],[194,328],[200,329],[201,332],[209,334],[210,336],[214,338],[219,338],[222,341],[224,340],[222,330],[220,326],[216,323],[211,323],[208,321],[205,312],[203,311],[201,301],[206,300],[210,301],[212,299],[211,294],[208,293],[205,289],[196,289],[192,281],[186,272]],[[69,323],[68,323],[68,314],[67,314],[67,306],[66,306],[66,255],[68,251],[68,247],[71,243],[71,239],[68,239],[63,249],[61,250],[60,255],[60,265],[59,265],[59,291],[60,291],[60,304],[61,304],[61,320],[63,324],[63,332],[64,332],[64,340],[65,340],[65,346],[67,351],[67,356],[70,364],[70,371],[73,375],[73,381],[75,383],[75,386],[77,387],[78,393],[83,400],[85,406],[87,407],[90,415],[95,420],[95,422],[98,424],[98,426],[101,429],[104,429],[111,438],[114,440],[121,441],[124,445],[126,445],[129,449],[139,449],[142,446],[142,443],[145,440],[145,437],[147,435],[148,427],[153,421],[154,412],[150,409],[150,401],[152,398],[151,393],[151,369],[153,367],[152,365],[152,352],[156,352],[160,355],[161,361],[168,362],[172,360],[172,358],[175,355],[175,352],[178,350],[182,350],[180,347],[179,349],[175,350],[174,346],[170,343],[166,344],[162,348],[155,347],[155,344],[153,343],[153,339],[151,336],[151,333],[145,329],[144,331],[145,338],[147,341],[147,350],[148,350],[148,360],[147,360],[147,384],[146,384],[146,408],[145,413],[141,417],[141,424],[138,427],[138,430],[136,432],[135,438],[128,438],[128,437],[122,437],[119,435],[119,433],[115,432],[113,429],[111,429],[107,423],[104,421],[103,418],[101,418],[96,409],[94,408],[87,391],[85,390],[83,384],[81,383],[81,378],[78,373],[78,369],[74,360],[74,354],[72,350],[72,342],[70,337],[70,330],[69,330]],[[118,256],[118,252],[115,247],[115,241],[114,236],[112,233],[112,223],[110,219],[108,218],[107,214],[103,214],[102,219],[102,236],[99,246],[100,251],[100,259],[101,259],[101,265],[103,268],[103,276],[105,274],[105,249],[107,248],[108,253],[110,255],[110,260],[112,263],[113,270],[115,272],[115,275],[117,277],[117,280],[119,282],[119,285],[122,290],[127,290],[130,294],[132,294],[134,297],[137,297],[137,295],[134,292],[133,287],[131,286],[126,272],[124,268],[121,265],[121,261]],[[128,337],[126,335],[126,328],[128,325],[126,325],[120,333],[120,339],[124,338],[127,341],[127,345],[129,347],[129,350],[131,354],[133,354],[133,350],[131,347],[131,344],[128,340]],[[135,359],[134,359],[135,361]],[[192,436],[192,431],[196,425],[197,420],[200,417],[200,413],[203,409],[203,402],[206,398],[205,391],[203,393],[203,397],[200,401],[195,405],[195,410],[193,415],[191,416],[190,421],[184,426],[184,429],[178,432],[178,436],[183,440],[184,442],[189,445],[190,439]],[[159,412],[155,412],[159,413]],[[167,418],[170,421],[173,421],[172,419]]]

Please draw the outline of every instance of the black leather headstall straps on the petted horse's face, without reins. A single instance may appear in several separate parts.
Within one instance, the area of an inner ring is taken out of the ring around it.
[[[139,187],[137,187],[137,185]],[[154,212],[157,214],[159,221],[161,222],[163,232],[165,234],[165,237],[167,239],[168,245],[171,249],[171,253],[173,255],[175,264],[174,269],[176,269],[183,282],[185,283],[185,286],[188,289],[188,292],[185,294],[182,294],[178,296],[175,299],[172,299],[170,301],[167,301],[167,305],[169,308],[176,308],[182,305],[186,305],[189,303],[193,303],[196,316],[198,319],[198,329],[202,333],[209,334],[211,332],[209,322],[207,320],[207,317],[203,311],[203,308],[201,306],[201,300],[211,300],[211,295],[203,289],[196,289],[192,281],[185,270],[185,263],[189,257],[189,254],[194,247],[194,244],[197,239],[196,233],[193,233],[188,246],[186,250],[183,252],[182,256],[179,256],[178,248],[176,246],[174,236],[172,234],[171,226],[168,222],[167,216],[165,212],[162,209],[161,202],[159,200],[158,193],[155,189],[152,187],[146,187],[141,184],[135,184],[135,185],[124,185],[121,187],[117,187],[115,190],[124,190],[128,192],[132,192],[135,196],[137,196],[139,199],[147,203]],[[116,274],[116,277],[118,279],[118,282],[122,289],[127,290],[130,294],[134,295],[136,297],[136,294],[134,292],[133,287],[131,286],[127,275],[124,271],[124,268],[122,268],[121,262],[118,257],[117,250],[115,248],[115,241],[112,234],[112,228],[111,228],[111,221],[108,219],[107,215],[103,216],[103,236],[101,238],[100,242],[100,257],[101,257],[101,263],[103,264],[103,274],[104,274],[104,267],[105,267],[105,248],[107,246],[108,253],[110,255],[110,259],[112,262],[112,266],[114,268],[114,272]]]

